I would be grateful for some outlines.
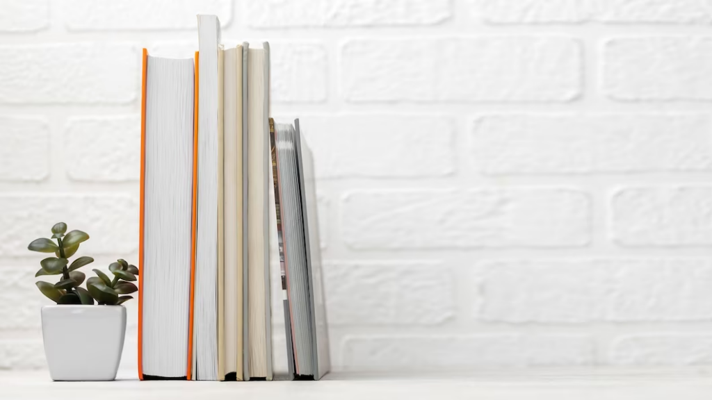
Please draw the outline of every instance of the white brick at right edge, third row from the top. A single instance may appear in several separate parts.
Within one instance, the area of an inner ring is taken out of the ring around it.
[[[707,115],[486,115],[470,149],[486,174],[695,171],[712,167],[709,134]]]

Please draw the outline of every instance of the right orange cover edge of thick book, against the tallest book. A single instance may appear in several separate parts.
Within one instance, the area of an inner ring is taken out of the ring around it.
[[[198,52],[195,52],[195,104],[193,106],[193,221],[190,265],[190,314],[188,318],[188,366],[186,378],[191,380],[193,367],[193,302],[195,300],[195,239],[198,221]]]

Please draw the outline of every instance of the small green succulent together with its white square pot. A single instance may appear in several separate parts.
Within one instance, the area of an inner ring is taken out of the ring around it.
[[[94,259],[82,256],[70,263],[69,258],[89,235],[66,231],[66,223],[56,223],[52,238],[38,238],[28,246],[31,251],[54,253],[41,260],[42,268],[36,277],[61,275],[57,283],[36,283],[43,295],[57,303],[42,307],[42,337],[49,373],[55,381],[111,381],[116,377],[124,347],[126,309],[122,303],[132,299],[127,294],[138,290],[130,282],[136,280],[138,268],[117,260],[109,265],[112,279],[95,269],[97,276],[86,280],[86,288],[82,288],[85,275],[78,269]]]

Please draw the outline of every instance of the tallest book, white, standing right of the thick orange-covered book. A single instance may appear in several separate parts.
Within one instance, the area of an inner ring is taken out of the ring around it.
[[[198,16],[198,204],[193,319],[193,379],[216,380],[218,273],[218,46],[216,16]]]

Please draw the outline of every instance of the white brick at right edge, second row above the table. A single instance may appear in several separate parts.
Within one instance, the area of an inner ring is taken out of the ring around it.
[[[478,262],[481,310],[496,322],[678,321],[712,317],[712,260]]]

